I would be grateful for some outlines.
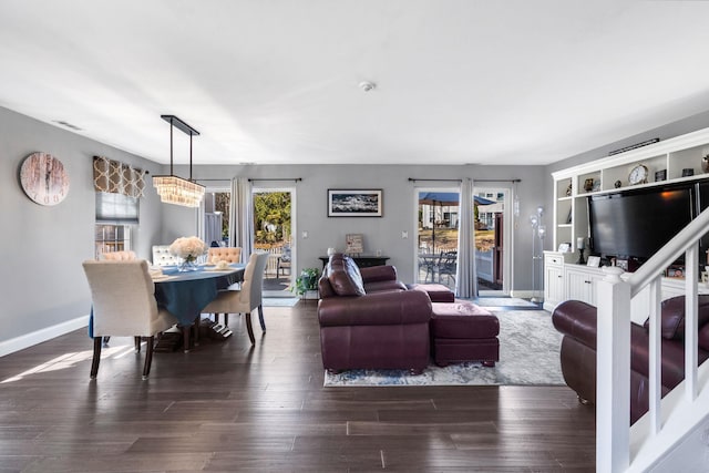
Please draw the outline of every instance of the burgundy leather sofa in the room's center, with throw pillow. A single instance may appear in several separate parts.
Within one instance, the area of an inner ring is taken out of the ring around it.
[[[318,281],[322,364],[423,371],[429,363],[431,299],[408,290],[393,266],[358,268],[335,254]]]

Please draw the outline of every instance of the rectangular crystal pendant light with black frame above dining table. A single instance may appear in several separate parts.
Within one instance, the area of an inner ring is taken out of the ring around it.
[[[153,176],[153,185],[157,189],[160,199],[166,204],[198,207],[205,188],[192,178],[192,137],[199,135],[199,132],[175,115],[161,115],[161,119],[169,123],[169,175]],[[189,179],[183,179],[173,174],[173,128],[175,126],[189,135]]]

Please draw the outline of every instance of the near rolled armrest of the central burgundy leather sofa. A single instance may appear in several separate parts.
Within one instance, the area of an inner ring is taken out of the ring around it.
[[[431,313],[431,299],[420,291],[331,297],[318,304],[321,327],[427,323]]]

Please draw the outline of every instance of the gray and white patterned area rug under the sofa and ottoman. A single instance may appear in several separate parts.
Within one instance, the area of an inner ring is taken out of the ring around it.
[[[545,310],[507,310],[500,319],[500,361],[494,368],[465,362],[439,368],[431,363],[422,374],[405,370],[326,371],[326,387],[381,385],[563,385],[559,362],[562,335]]]

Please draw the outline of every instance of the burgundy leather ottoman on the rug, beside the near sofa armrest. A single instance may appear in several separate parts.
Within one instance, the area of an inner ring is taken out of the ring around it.
[[[500,361],[500,321],[479,306],[456,300],[434,302],[431,317],[431,350],[439,367],[461,361]]]

